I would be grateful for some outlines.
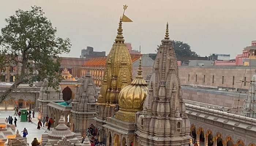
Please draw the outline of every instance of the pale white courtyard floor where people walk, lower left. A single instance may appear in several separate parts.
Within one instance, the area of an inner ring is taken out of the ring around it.
[[[24,128],[26,128],[28,132],[27,142],[29,143],[29,145],[31,145],[31,142],[35,137],[41,139],[41,135],[44,134],[45,132],[48,132],[47,127],[42,127],[40,130],[37,129],[37,114],[38,112],[35,112],[35,118],[32,119],[32,123],[20,122],[19,117],[14,116],[14,111],[0,111],[0,118],[8,118],[9,115],[12,116],[12,118],[16,117],[18,119],[16,130],[18,129],[20,135],[23,135],[22,131]]]

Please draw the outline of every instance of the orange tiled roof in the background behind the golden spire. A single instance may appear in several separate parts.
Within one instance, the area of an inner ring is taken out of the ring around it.
[[[132,63],[139,59],[142,54],[132,54],[131,59]],[[106,59],[107,57],[99,57],[99,58],[90,58],[88,61],[84,63],[84,67],[102,67],[106,66]]]

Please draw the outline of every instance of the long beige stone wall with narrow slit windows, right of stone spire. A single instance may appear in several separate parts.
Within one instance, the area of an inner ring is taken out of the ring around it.
[[[209,88],[249,89],[256,66],[179,66],[181,85]]]

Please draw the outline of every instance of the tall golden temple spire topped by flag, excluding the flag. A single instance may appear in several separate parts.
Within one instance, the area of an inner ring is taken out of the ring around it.
[[[112,117],[118,109],[118,95],[122,88],[131,83],[132,63],[131,56],[124,43],[122,20],[120,18],[115,42],[110,50],[100,95],[96,103],[95,117],[100,141],[105,140],[102,125],[107,117]]]

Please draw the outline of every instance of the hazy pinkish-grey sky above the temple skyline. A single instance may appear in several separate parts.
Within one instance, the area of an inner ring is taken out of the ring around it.
[[[116,37],[118,20],[125,12],[134,22],[124,23],[125,42],[142,53],[155,53],[169,22],[170,39],[188,43],[201,56],[210,53],[241,54],[256,40],[256,0],[2,0],[0,27],[16,9],[41,6],[57,36],[70,38],[71,53],[94,47],[108,54]]]

